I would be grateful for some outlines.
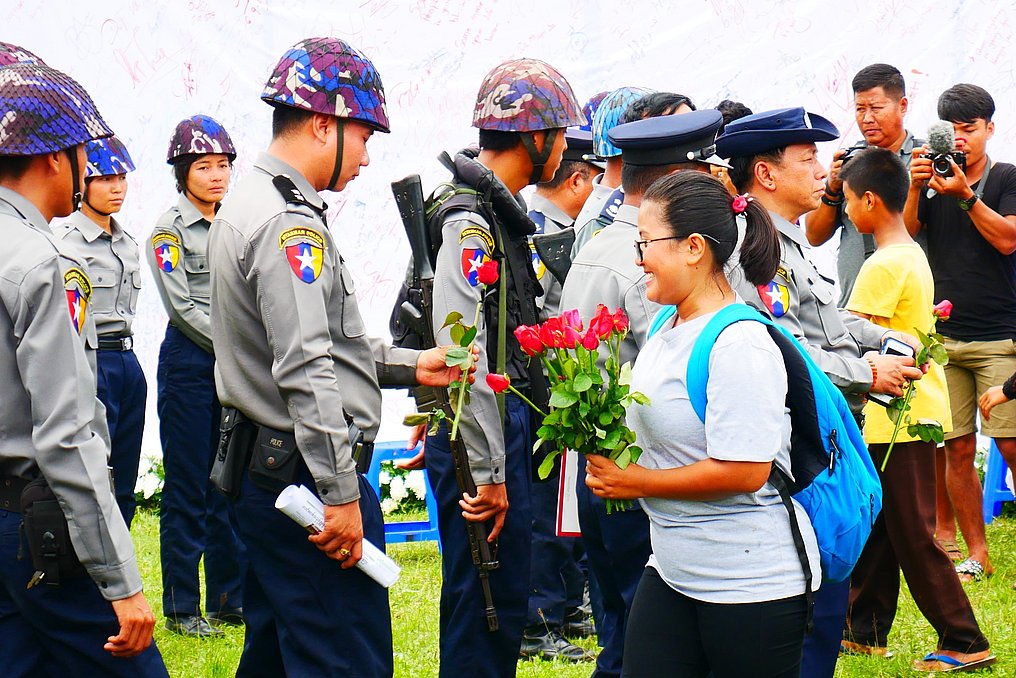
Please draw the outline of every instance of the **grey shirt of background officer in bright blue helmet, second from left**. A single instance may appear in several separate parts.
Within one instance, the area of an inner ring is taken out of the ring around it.
[[[78,210],[60,224],[56,235],[88,267],[99,335],[129,336],[141,290],[141,260],[137,241],[115,219],[110,227],[112,233],[106,233]]]

